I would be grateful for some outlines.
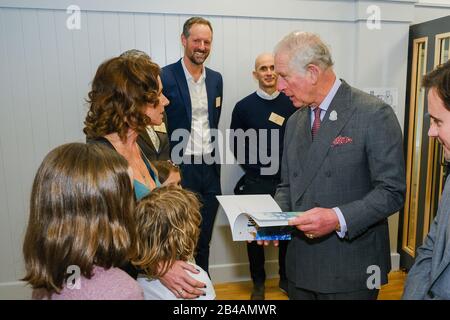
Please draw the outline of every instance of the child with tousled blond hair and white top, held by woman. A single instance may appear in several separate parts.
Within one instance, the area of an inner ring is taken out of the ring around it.
[[[194,193],[176,186],[157,188],[138,204],[136,221],[139,255],[133,264],[142,272],[137,280],[146,300],[185,299],[191,295],[181,287],[169,290],[159,280],[177,260],[200,271],[198,274],[188,271],[194,279],[206,284],[203,295],[197,299],[215,299],[208,274],[193,262],[201,222],[200,203]]]

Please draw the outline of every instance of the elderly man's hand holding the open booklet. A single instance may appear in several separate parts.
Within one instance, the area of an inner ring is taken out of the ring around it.
[[[289,225],[295,226],[310,238],[323,237],[336,230],[339,218],[333,209],[313,208],[304,214],[289,219]]]

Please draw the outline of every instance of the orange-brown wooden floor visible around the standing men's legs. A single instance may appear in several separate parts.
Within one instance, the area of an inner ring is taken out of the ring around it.
[[[389,274],[389,283],[381,287],[378,300],[399,300],[403,293],[406,273],[394,271]],[[217,300],[249,300],[252,282],[229,282],[214,285]],[[266,300],[288,300],[278,288],[278,279],[266,281]]]

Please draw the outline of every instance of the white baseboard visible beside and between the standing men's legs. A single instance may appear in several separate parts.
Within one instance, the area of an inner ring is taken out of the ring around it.
[[[400,255],[397,252],[391,252],[391,265],[391,271],[400,269]],[[266,261],[265,270],[267,279],[278,277],[278,260]],[[214,284],[251,280],[248,262],[211,265],[209,273]]]

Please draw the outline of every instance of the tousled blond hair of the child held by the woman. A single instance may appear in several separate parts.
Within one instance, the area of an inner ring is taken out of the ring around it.
[[[200,202],[175,186],[157,188],[136,208],[139,258],[133,264],[150,278],[166,274],[176,260],[193,259],[200,234]]]

